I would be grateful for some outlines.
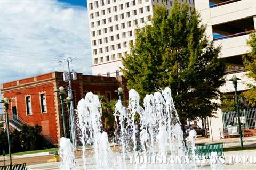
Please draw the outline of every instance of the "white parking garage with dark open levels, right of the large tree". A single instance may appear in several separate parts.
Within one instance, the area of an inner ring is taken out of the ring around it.
[[[255,0],[195,0],[195,8],[201,13],[202,23],[207,24],[206,34],[214,44],[221,45],[220,58],[229,70],[226,71],[227,82],[220,87],[223,94],[234,93],[234,87],[229,81],[233,75],[241,78],[237,83],[237,91],[249,89],[246,83],[255,84],[255,81],[246,77],[242,55],[249,52],[246,41],[250,33],[256,29],[256,1]],[[223,127],[228,127],[227,134],[232,131],[236,120],[229,117],[229,124],[223,120],[221,109],[217,111],[218,118],[211,118],[212,137],[223,138]],[[227,120],[228,117],[226,117]],[[233,124],[232,124],[233,123]],[[243,122],[242,122],[243,123]],[[235,128],[236,129],[236,128]],[[210,135],[211,137],[211,135]]]

